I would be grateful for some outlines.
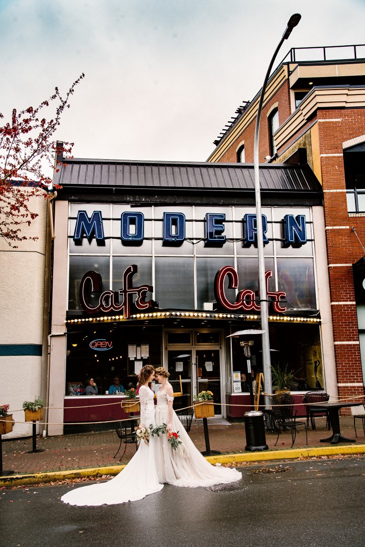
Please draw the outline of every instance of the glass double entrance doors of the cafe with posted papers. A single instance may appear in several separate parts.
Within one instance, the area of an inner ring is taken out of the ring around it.
[[[211,391],[215,400],[215,414],[222,416],[221,408],[221,359],[220,350],[212,347],[184,346],[167,350],[167,369],[169,381],[174,392],[180,391],[179,376],[182,382],[182,397],[176,397],[175,409],[192,405],[193,396],[201,391]]]

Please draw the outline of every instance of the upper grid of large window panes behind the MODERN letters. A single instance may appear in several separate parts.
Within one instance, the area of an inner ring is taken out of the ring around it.
[[[158,302],[160,309],[218,309],[215,307],[215,276],[223,266],[236,269],[238,290],[258,290],[257,246],[254,241],[246,241],[250,230],[251,235],[255,233],[256,221],[252,221],[254,208],[164,206],[140,209],[138,211],[138,208],[126,204],[71,205],[68,310],[80,310],[78,292],[86,272],[96,271],[101,275],[103,290],[119,291],[123,288],[123,272],[132,264],[137,266],[133,286],[152,286],[154,292],[148,293],[147,300]],[[91,236],[83,234],[79,241],[74,241],[76,218],[82,211],[88,215],[84,221]],[[104,239],[99,237],[97,242],[96,235],[92,237],[91,219],[94,212],[102,218],[103,226]],[[171,225],[167,232],[164,213],[171,213],[172,217],[175,214],[169,221]],[[129,220],[123,228],[121,218],[125,218],[125,214]],[[316,310],[311,209],[265,207],[263,214],[268,238],[264,251],[265,269],[272,272],[268,281],[269,290],[286,293],[283,300],[287,309]],[[285,243],[283,226],[288,214],[296,219],[305,217],[306,237],[299,245]],[[212,222],[212,237],[222,234],[225,237],[217,245],[206,240],[207,215],[217,216]],[[250,217],[251,225],[248,226],[245,219]],[[123,230],[125,240],[121,241]],[[173,236],[181,235],[183,231],[184,240],[174,241]],[[229,301],[234,302],[237,290],[228,289],[228,278],[225,280],[225,290]],[[97,304],[99,296],[90,292],[91,307]]]

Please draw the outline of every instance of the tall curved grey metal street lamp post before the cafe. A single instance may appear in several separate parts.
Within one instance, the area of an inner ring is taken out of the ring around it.
[[[253,165],[254,165],[254,186],[255,186],[255,200],[256,200],[256,225],[257,225],[257,251],[258,251],[258,276],[259,276],[259,293],[260,293],[260,309],[261,309],[261,328],[262,334],[262,359],[263,359],[263,371],[264,371],[264,387],[266,393],[271,393],[271,364],[270,364],[270,345],[269,345],[269,323],[268,323],[268,295],[266,293],[265,282],[265,261],[264,261],[264,242],[263,242],[263,228],[262,228],[262,216],[261,216],[261,195],[260,195],[260,176],[259,176],[259,159],[258,159],[258,143],[259,143],[259,131],[260,131],[260,118],[262,105],[264,102],[266,84],[270,76],[271,68],[273,68],[276,55],[284,42],[290,36],[293,28],[296,27],[301,19],[301,15],[296,13],[291,16],[288,21],[285,32],[283,33],[279,44],[275,50],[273,58],[270,61],[268,71],[266,72],[264,84],[262,86],[260,100],[258,103],[256,126],[254,134],[254,146],[253,146]],[[265,404],[269,404],[267,395],[265,396]]]

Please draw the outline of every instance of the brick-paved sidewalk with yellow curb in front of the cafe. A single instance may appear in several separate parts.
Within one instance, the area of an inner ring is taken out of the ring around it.
[[[331,453],[344,452],[344,444],[331,445],[329,443],[320,443],[321,438],[329,437],[332,433],[325,427],[325,418],[316,418],[317,429],[312,431],[308,429],[308,447],[305,444],[304,427],[298,429],[297,438],[293,449],[318,449],[311,450],[311,455],[321,455],[323,449],[331,447]],[[354,421],[351,416],[340,417],[341,433],[350,439],[355,439]],[[246,452],[245,453],[245,426],[243,423],[233,423],[227,425],[209,425],[211,450],[219,450],[222,455],[240,454],[239,461],[262,461],[265,459],[285,459],[286,457],[296,457],[291,454],[291,433],[281,433],[277,446],[274,446],[277,433],[266,432],[266,443],[269,451],[275,451],[274,455],[265,452]],[[351,445],[351,451],[354,453],[365,452],[365,438],[362,427],[357,428],[357,443]],[[201,424],[192,424],[190,438],[198,448],[205,450],[204,430]],[[350,443],[349,443],[350,444]],[[121,466],[129,462],[135,453],[135,444],[127,444],[123,459],[119,462],[121,453],[124,450],[124,444],[121,445],[120,455],[114,458],[119,446],[119,439],[113,430],[101,432],[67,434],[60,437],[37,438],[37,448],[45,449],[44,452],[26,453],[32,449],[32,438],[9,440],[3,439],[3,470],[10,470],[14,475],[28,475],[35,473],[55,473],[55,476],[66,476],[73,470],[97,468],[97,474],[103,472],[102,468],[111,466]],[[358,448],[358,450],[357,450]],[[247,455],[247,458],[242,455]],[[328,449],[327,449],[328,452]],[[346,451],[345,451],[346,452]],[[329,452],[328,452],[329,453]],[[348,453],[348,450],[347,450]],[[212,458],[212,461],[228,461],[227,458]],[[228,458],[229,459],[229,458]],[[118,468],[114,473],[119,471]],[[106,470],[110,473],[110,470]],[[9,478],[0,479],[0,486],[9,482]],[[14,482],[14,479],[13,479]],[[18,481],[19,482],[19,481]],[[40,481],[38,481],[40,482]],[[21,482],[19,482],[21,484]]]

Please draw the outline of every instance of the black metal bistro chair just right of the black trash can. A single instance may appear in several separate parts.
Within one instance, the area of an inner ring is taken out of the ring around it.
[[[271,409],[273,411],[273,420],[275,423],[275,429],[277,430],[277,441],[279,440],[279,435],[282,431],[290,429],[292,434],[292,447],[297,437],[297,427],[304,426],[305,429],[305,438],[306,444],[308,445],[308,434],[306,430],[306,422],[302,420],[297,420],[297,410],[294,410],[294,398],[290,393],[277,393],[269,397],[271,403]]]

